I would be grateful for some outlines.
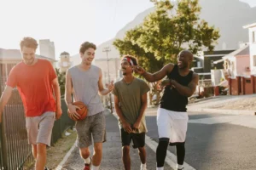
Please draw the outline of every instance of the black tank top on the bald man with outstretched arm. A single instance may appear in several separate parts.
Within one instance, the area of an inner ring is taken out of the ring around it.
[[[177,65],[174,65],[172,71],[167,75],[169,79],[175,80],[183,86],[188,86],[192,81],[193,71],[189,71],[189,74],[182,77],[178,73]],[[166,86],[164,94],[160,99],[160,108],[169,111],[187,111],[186,105],[188,105],[188,97],[179,94],[176,88]]]

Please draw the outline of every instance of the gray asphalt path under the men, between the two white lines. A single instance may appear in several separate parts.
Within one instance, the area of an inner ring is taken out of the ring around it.
[[[107,142],[103,144],[103,156],[101,170],[123,170],[123,162],[121,155],[121,142],[119,135],[119,127],[117,119],[106,112],[106,122],[107,122]],[[148,170],[155,170],[155,150],[151,150],[146,146],[147,150],[147,167]],[[90,147],[92,155],[92,147]],[[140,158],[138,156],[137,150],[131,147],[131,170],[140,169]],[[57,170],[82,170],[84,167],[84,162],[79,156],[79,149],[74,147],[71,155],[68,156],[67,161],[61,165],[61,167],[56,168]],[[165,170],[172,170],[171,167],[165,166]]]

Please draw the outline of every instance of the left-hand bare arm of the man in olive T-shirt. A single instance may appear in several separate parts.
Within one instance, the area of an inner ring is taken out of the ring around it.
[[[119,107],[118,96],[114,95],[113,101],[114,101],[114,108],[115,108],[116,114],[119,116],[119,119],[120,119],[120,122],[122,123],[123,128],[127,133],[132,133],[131,125],[125,121],[125,117],[123,116],[123,113]]]

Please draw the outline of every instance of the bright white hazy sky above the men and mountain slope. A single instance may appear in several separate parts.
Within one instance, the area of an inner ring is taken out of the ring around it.
[[[241,0],[256,6],[256,0]],[[137,14],[153,7],[150,0],[0,0],[0,48],[19,48],[22,37],[55,42],[79,54],[82,42],[96,45],[115,37]],[[37,51],[39,54],[39,50]]]

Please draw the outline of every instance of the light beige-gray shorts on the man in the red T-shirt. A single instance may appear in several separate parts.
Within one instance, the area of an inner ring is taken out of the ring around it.
[[[26,117],[28,144],[47,144],[50,146],[55,112],[47,111],[41,116]]]

